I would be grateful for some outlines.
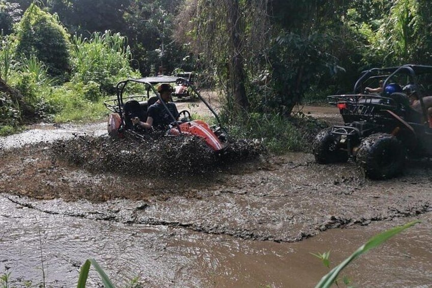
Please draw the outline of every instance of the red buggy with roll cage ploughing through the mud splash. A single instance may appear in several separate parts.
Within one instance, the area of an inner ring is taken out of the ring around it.
[[[205,104],[205,106],[213,114],[217,125],[210,126],[201,120],[192,120],[191,113],[187,110],[180,111],[181,121],[177,121],[174,115],[168,109],[166,103],[161,99],[156,91],[156,85],[161,83],[175,84],[178,82],[186,83],[188,87],[193,89],[197,97]],[[126,96],[126,86],[131,83],[142,84],[144,86],[144,95],[129,95]],[[207,101],[198,93],[198,91],[185,78],[176,76],[155,76],[133,79],[129,78],[120,81],[117,86],[117,97],[104,101],[105,107],[112,113],[108,119],[108,134],[113,137],[133,136],[135,138],[144,139],[148,135],[148,130],[142,129],[133,125],[130,119],[138,117],[141,121],[147,120],[147,109],[160,100],[163,103],[167,113],[172,118],[172,123],[164,127],[167,136],[191,135],[202,138],[212,150],[216,152],[223,151],[228,146],[227,133],[222,127],[221,121],[214,110],[209,106]]]

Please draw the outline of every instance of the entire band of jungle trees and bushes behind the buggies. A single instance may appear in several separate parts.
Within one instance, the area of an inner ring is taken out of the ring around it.
[[[350,92],[362,70],[432,64],[431,13],[426,0],[0,0],[0,134],[95,119],[121,78],[193,70],[239,135],[292,136],[297,104]]]

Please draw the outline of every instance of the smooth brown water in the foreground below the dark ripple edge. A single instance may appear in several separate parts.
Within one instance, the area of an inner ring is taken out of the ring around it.
[[[0,271],[11,272],[10,279],[17,286],[26,280],[32,280],[34,286],[43,282],[42,253],[48,287],[75,286],[79,267],[89,257],[119,287],[136,277],[145,287],[313,287],[328,269],[310,252],[331,250],[335,265],[373,234],[414,219],[330,229],[301,242],[276,243],[168,225],[56,215],[5,197],[0,198],[0,205],[4,227]],[[342,274],[358,287],[428,287],[432,281],[432,218],[430,213],[418,218],[421,224],[363,255]],[[94,270],[88,286],[101,286]]]

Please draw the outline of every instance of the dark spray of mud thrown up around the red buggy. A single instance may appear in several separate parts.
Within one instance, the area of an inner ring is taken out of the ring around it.
[[[92,172],[125,175],[205,175],[239,162],[256,160],[265,149],[259,143],[240,140],[216,154],[198,137],[166,137],[154,134],[142,139],[76,136],[52,145],[57,159]]]

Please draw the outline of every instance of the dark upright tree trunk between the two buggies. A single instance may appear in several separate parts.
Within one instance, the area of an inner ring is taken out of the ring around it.
[[[241,55],[241,29],[238,13],[238,0],[226,0],[227,7],[227,29],[230,37],[229,51],[229,82],[230,91],[234,95],[235,107],[238,110],[247,110],[249,106],[245,88],[244,61]]]

